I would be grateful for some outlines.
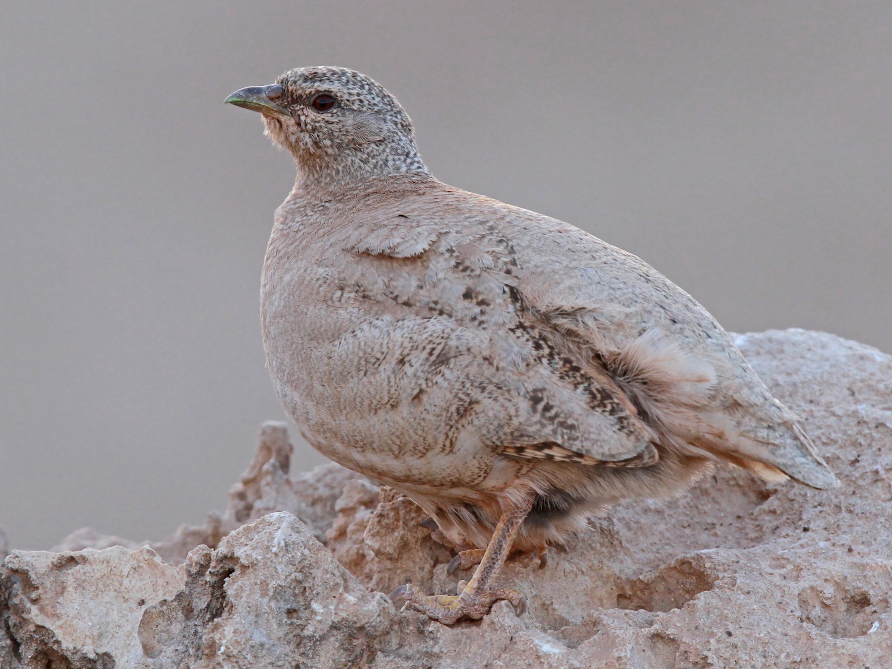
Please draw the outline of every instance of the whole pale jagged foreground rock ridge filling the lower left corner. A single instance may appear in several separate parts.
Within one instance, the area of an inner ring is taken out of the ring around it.
[[[387,639],[393,616],[389,599],[285,512],[181,566],[148,547],[19,552],[4,565],[4,594],[22,666],[247,667],[262,657],[352,667]]]

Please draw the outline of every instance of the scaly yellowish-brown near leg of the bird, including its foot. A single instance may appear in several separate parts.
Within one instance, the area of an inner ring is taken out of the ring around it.
[[[522,615],[526,608],[526,598],[523,593],[516,590],[508,590],[492,587],[496,574],[499,574],[501,566],[520,530],[524,524],[524,518],[533,507],[533,494],[530,493],[524,500],[502,512],[499,524],[492,533],[489,546],[483,553],[483,559],[471,580],[460,588],[458,595],[432,595],[426,596],[416,585],[407,583],[392,592],[391,599],[407,599],[405,607],[413,608],[428,615],[443,624],[453,624],[463,616],[479,620],[489,613],[490,607],[499,599],[508,599],[514,605],[517,615]],[[459,584],[460,585],[460,584]]]

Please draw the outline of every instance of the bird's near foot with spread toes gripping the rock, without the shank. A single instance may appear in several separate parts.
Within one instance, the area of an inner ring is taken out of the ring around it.
[[[508,588],[483,590],[464,581],[458,583],[458,595],[425,595],[417,585],[407,583],[393,591],[391,599],[405,599],[403,611],[420,611],[427,617],[448,625],[462,617],[480,620],[500,599],[508,599],[517,615],[524,615],[526,610],[523,592]]]

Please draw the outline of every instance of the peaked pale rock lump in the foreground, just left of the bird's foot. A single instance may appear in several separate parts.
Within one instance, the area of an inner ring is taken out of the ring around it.
[[[388,637],[390,600],[363,588],[289,513],[195,549],[186,565],[185,589],[145,610],[139,666],[352,667]]]

